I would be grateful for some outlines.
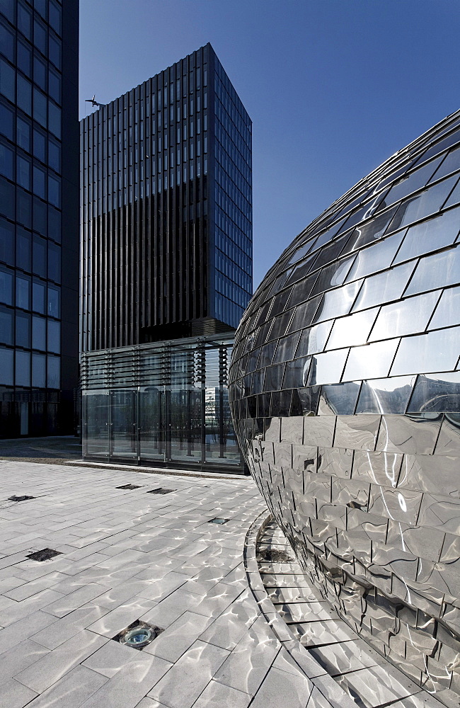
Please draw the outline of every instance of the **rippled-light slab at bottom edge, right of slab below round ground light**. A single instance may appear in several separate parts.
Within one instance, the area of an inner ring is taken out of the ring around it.
[[[168,708],[190,708],[229,652],[197,640],[149,692]]]

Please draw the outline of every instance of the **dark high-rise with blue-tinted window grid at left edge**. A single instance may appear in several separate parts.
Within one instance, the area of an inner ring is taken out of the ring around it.
[[[74,427],[78,42],[78,0],[1,0],[2,438]]]

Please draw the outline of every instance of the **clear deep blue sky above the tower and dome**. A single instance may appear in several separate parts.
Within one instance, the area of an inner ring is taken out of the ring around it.
[[[253,120],[254,287],[460,106],[459,0],[81,0],[81,115],[211,42]]]

